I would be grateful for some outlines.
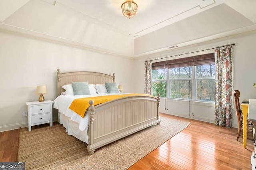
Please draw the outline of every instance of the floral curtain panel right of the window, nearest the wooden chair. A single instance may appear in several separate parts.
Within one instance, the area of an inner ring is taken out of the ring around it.
[[[215,125],[232,127],[232,56],[233,46],[215,50]]]

